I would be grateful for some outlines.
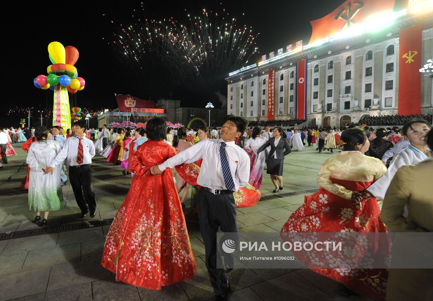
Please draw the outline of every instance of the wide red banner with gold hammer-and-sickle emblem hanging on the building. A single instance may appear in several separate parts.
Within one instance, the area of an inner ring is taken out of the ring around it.
[[[398,115],[421,114],[421,36],[423,25],[400,30]],[[394,85],[395,87],[395,85]]]

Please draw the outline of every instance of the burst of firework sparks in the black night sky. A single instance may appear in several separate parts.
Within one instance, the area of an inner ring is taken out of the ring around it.
[[[187,83],[213,93],[216,79],[245,65],[258,49],[252,29],[239,26],[225,9],[222,13],[203,10],[198,16],[184,10],[184,20],[150,19],[146,14],[150,15],[142,6],[128,26],[111,20],[115,32],[108,44],[140,79],[152,77],[155,85]]]

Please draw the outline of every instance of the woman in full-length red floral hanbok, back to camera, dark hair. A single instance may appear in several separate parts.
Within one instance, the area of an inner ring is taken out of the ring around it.
[[[162,141],[167,124],[157,117],[146,128],[149,141],[132,158],[131,188],[108,231],[101,265],[116,281],[159,290],[194,278],[197,270],[173,172],[150,173],[176,154]]]

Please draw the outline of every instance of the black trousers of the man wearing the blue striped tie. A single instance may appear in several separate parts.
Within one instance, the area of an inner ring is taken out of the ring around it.
[[[220,227],[223,232],[236,233],[228,238],[233,239],[238,245],[239,235],[235,200],[232,193],[215,195],[201,189],[197,197],[197,207],[210,283],[213,286],[215,295],[224,294],[227,289],[227,277],[224,268],[216,268],[216,256],[221,258],[216,245],[216,232]]]

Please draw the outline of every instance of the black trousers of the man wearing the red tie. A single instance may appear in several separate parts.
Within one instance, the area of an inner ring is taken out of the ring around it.
[[[92,172],[90,164],[80,165],[80,167],[69,167],[69,181],[71,182],[72,191],[74,191],[75,200],[81,213],[95,212],[96,200],[95,194],[90,188]]]

